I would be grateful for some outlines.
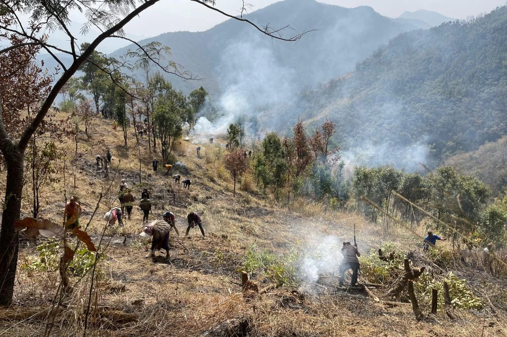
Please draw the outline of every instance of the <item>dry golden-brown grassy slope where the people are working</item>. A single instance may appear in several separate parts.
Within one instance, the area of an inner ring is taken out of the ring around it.
[[[506,335],[505,324],[493,317],[483,318],[465,312],[459,320],[450,322],[444,313],[439,313],[417,322],[410,306],[387,308],[375,304],[364,294],[312,294],[297,287],[281,287],[259,297],[243,298],[237,269],[242,266],[244,254],[252,245],[283,256],[291,249],[311,249],[307,242],[313,242],[312,235],[317,235],[317,239],[329,234],[351,239],[351,227],[355,222],[360,247],[366,251],[368,247],[377,248],[384,240],[382,229],[355,215],[326,211],[322,205],[303,199],[296,200],[293,211],[288,212],[271,198],[262,198],[255,191],[239,191],[233,198],[232,181],[217,161],[225,143],[221,139],[215,139],[218,144],[201,145],[201,158],[195,154],[198,145],[189,142],[183,141],[174,150],[175,159],[184,162],[189,170],[182,179],[189,177],[193,181],[190,191],[185,191],[181,185],[175,186],[162,176],[165,170],[157,174],[151,172],[153,154],[149,153],[144,138],[140,145],[142,172],[139,184],[135,177],[139,151],[134,136],[129,132],[126,150],[122,146],[121,130],[112,131],[111,123],[97,120],[94,128],[90,141],[80,136],[76,156],[71,141],[62,144],[69,149],[68,161],[72,165],[66,170],[65,185],[62,180],[45,190],[45,217],[61,221],[63,190],[66,190],[67,195],[77,194],[81,198],[84,209],[81,223],[86,224],[103,187],[104,197],[98,216],[88,230],[98,244],[98,236],[104,226],[101,217],[112,205],[118,205],[116,190],[124,177],[137,199],[141,187],[146,186],[152,191],[152,199],[157,203],[153,218],[171,210],[176,214],[176,224],[183,234],[186,214],[198,211],[202,214],[208,238],[202,240],[199,229],[192,229],[190,239],[179,238],[187,250],[174,242],[175,249],[171,251],[168,262],[161,257],[154,260],[144,258],[149,240],[137,235],[142,228],[142,213],[137,207],[132,220],[127,221],[124,227],[106,228],[103,242],[107,246],[104,250],[107,257],[100,264],[102,276],[92,299],[98,307],[137,314],[139,319],[123,324],[105,318],[98,320],[94,316],[88,322],[89,335],[199,335],[237,317],[248,317],[250,335],[253,336],[481,335],[483,330],[485,336]],[[114,158],[110,180],[103,178],[102,173],[94,168],[95,154],[103,152],[106,146],[111,148]],[[175,191],[175,205],[172,194],[167,193],[170,184]],[[111,189],[108,191],[109,186]],[[25,200],[26,213],[29,210],[27,203],[28,200]],[[422,229],[419,231],[422,233]],[[407,248],[413,248],[416,242],[410,232],[396,229],[385,240],[397,241]],[[17,306],[10,312],[47,308],[56,292],[59,282],[57,272],[30,271],[22,266],[36,254],[35,245],[41,242],[41,239],[38,242],[22,242],[15,289]],[[63,299],[66,309],[55,319],[53,335],[83,333],[83,305],[88,302],[90,275],[82,280],[71,280],[75,289],[73,294]],[[256,280],[261,287],[270,283],[261,275],[257,275]],[[292,305],[283,305],[287,302]],[[483,312],[484,315],[486,312]],[[0,318],[2,316],[0,312]],[[0,321],[0,336],[37,336],[42,335],[45,328],[46,320],[3,319]]]

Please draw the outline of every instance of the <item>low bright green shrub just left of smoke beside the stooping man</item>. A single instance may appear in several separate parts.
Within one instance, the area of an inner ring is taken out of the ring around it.
[[[298,253],[295,250],[279,257],[254,245],[246,251],[241,270],[252,275],[260,272],[277,285],[291,285],[296,280],[294,265],[297,259]]]

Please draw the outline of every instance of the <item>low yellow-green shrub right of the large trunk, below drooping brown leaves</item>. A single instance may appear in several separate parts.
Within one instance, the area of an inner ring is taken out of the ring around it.
[[[63,245],[60,240],[48,240],[37,246],[37,255],[28,256],[21,264],[23,269],[29,273],[35,272],[56,272],[63,254]],[[104,254],[100,259],[105,259]],[[74,259],[67,268],[69,276],[82,277],[86,275],[95,263],[95,253],[90,252],[86,247],[76,251]]]

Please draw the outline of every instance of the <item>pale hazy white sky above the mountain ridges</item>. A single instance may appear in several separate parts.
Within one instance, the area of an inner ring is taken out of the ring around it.
[[[276,1],[247,0],[246,2],[255,5],[252,9],[255,10]],[[389,17],[398,17],[405,11],[426,9],[458,19],[490,12],[497,6],[505,4],[505,0],[323,0],[320,2],[349,8],[370,6],[380,14]],[[240,6],[240,0],[216,0],[215,7],[237,15]],[[126,31],[129,35],[148,38],[168,31],[206,30],[225,19],[223,15],[188,0],[161,1],[130,22]]]

